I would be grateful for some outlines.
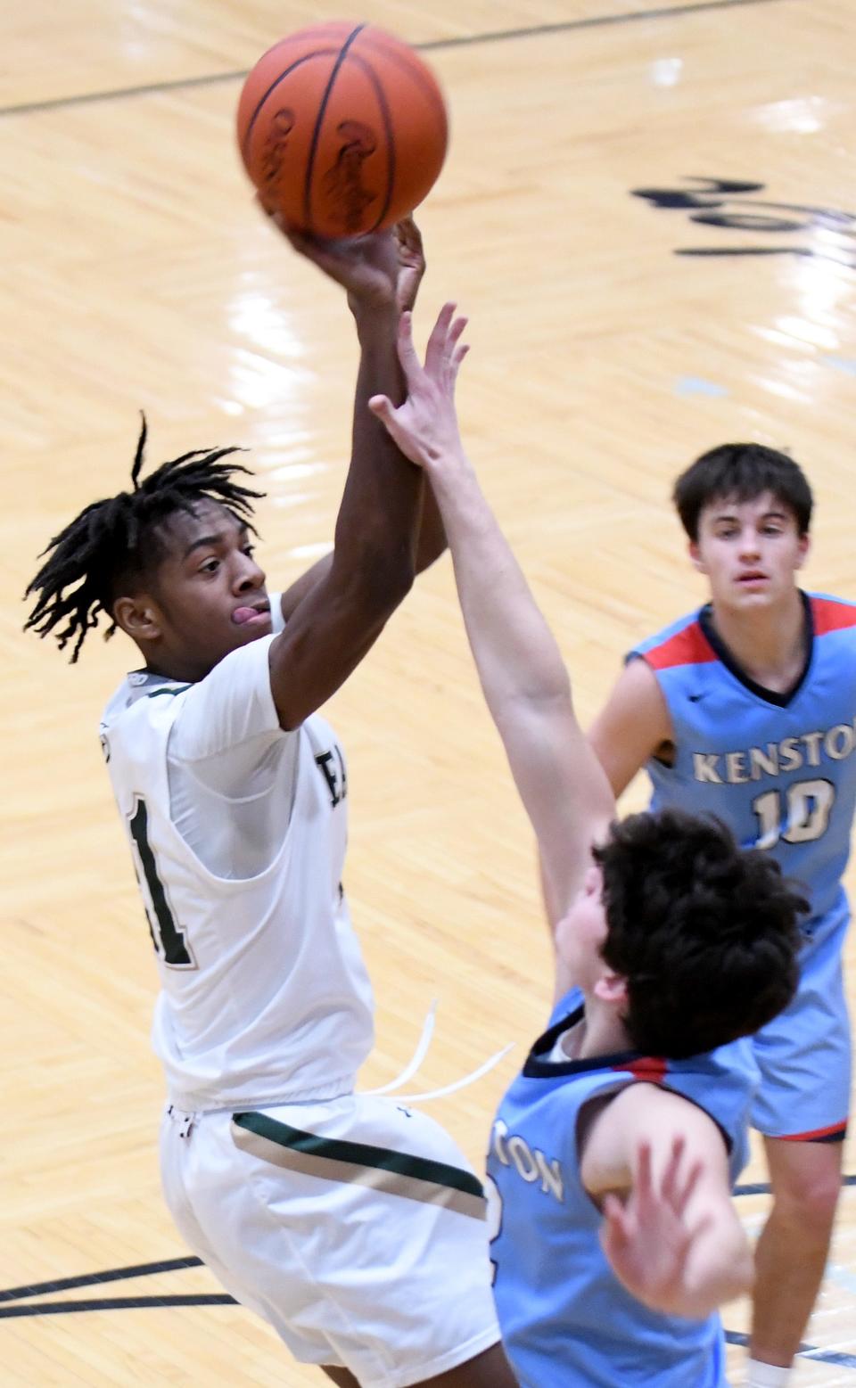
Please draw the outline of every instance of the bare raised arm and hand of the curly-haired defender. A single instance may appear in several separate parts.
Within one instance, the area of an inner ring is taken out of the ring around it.
[[[615,801],[576,720],[559,648],[461,444],[454,397],[466,353],[463,328],[447,304],[422,366],[402,315],[408,398],[395,407],[379,397],[372,409],[431,482],[481,687],[534,826],[551,895],[567,905]]]

